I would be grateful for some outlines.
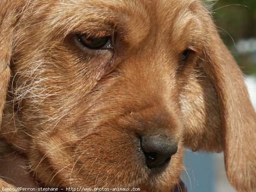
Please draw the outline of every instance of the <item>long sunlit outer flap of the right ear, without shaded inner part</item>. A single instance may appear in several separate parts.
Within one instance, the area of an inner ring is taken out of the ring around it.
[[[238,191],[256,189],[256,113],[241,71],[220,38],[206,50],[204,71],[212,81],[221,115],[225,167]]]

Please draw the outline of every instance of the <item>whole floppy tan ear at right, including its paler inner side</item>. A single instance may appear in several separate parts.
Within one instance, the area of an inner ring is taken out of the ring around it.
[[[224,150],[227,177],[239,192],[256,189],[256,113],[241,70],[210,18],[204,54],[183,91],[185,145]]]

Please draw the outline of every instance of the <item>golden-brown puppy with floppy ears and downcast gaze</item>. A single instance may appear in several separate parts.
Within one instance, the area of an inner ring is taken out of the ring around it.
[[[231,185],[256,189],[256,113],[201,0],[1,0],[0,14],[1,151],[33,182],[170,192],[189,147],[223,150]]]

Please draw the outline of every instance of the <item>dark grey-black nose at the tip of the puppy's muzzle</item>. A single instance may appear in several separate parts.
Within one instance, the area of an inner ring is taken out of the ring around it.
[[[169,163],[178,150],[177,142],[166,135],[141,137],[141,149],[148,168],[161,167]]]

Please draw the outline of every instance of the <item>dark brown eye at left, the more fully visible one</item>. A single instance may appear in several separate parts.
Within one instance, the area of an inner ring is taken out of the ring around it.
[[[86,35],[79,35],[81,44],[89,49],[112,49],[112,44],[109,36],[91,38]]]

